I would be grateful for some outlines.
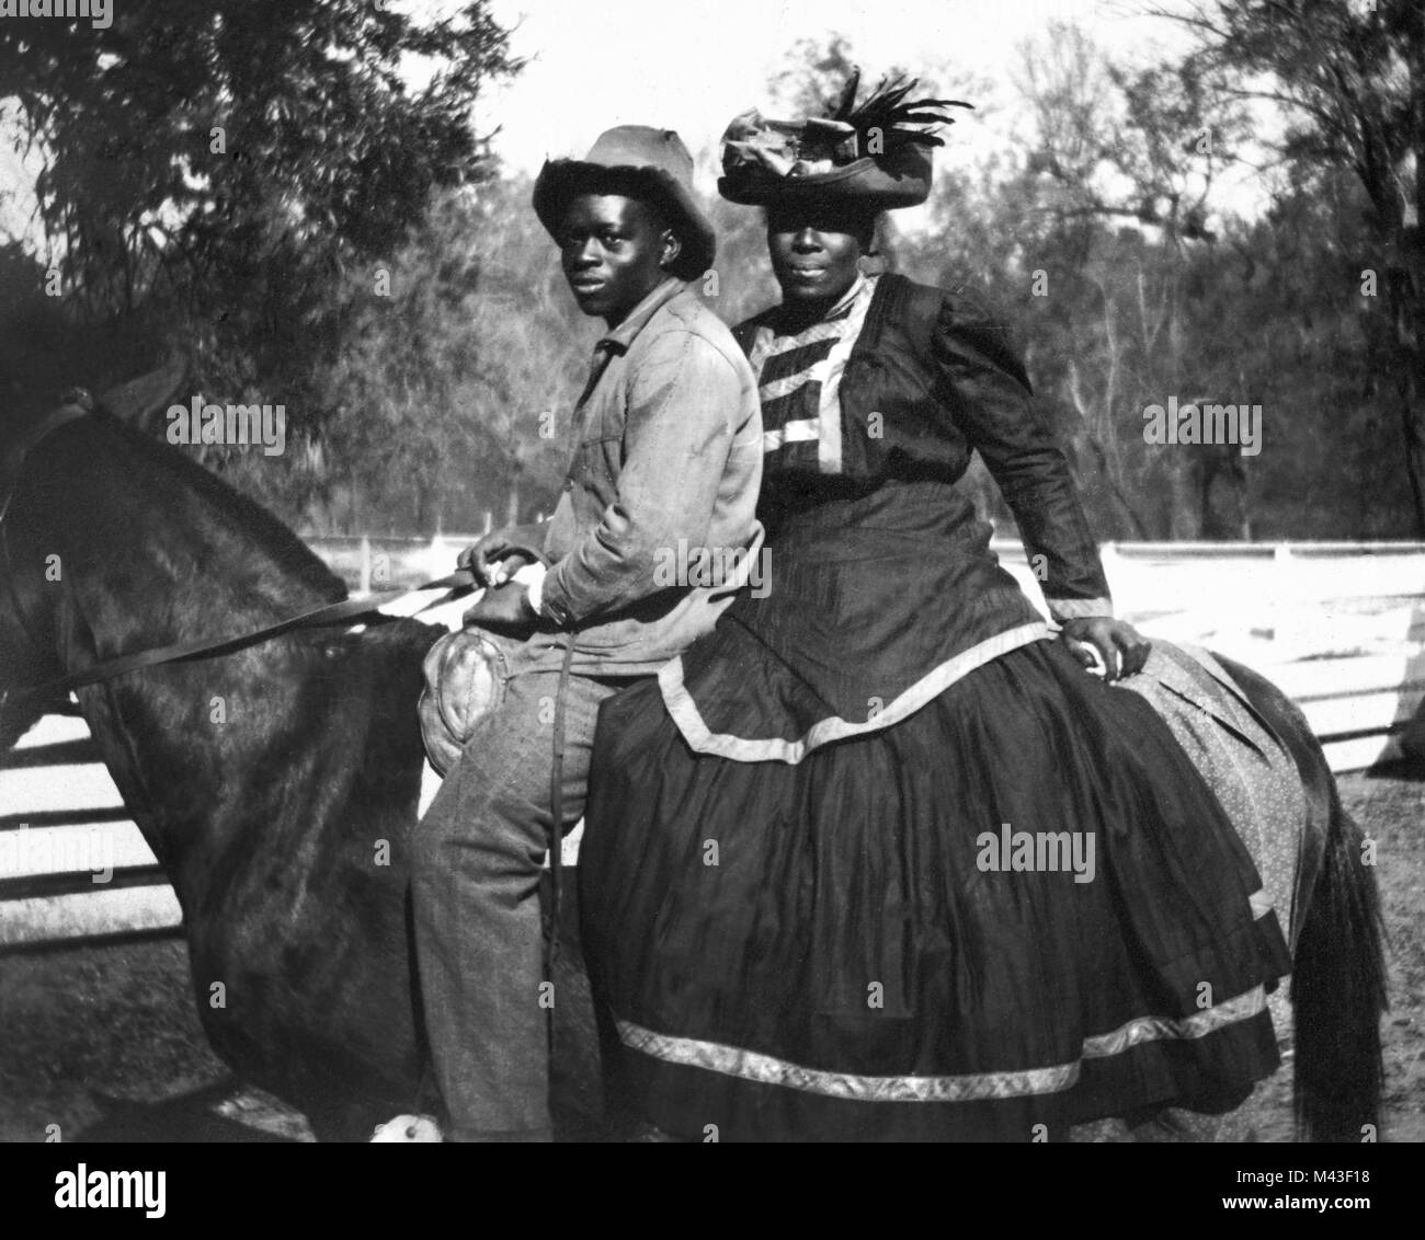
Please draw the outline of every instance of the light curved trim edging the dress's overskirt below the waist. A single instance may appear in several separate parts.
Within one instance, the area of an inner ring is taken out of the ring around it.
[[[683,679],[683,656],[663,665],[658,672],[658,686],[663,690],[663,700],[668,708],[668,715],[678,726],[683,737],[697,753],[711,753],[727,757],[732,762],[785,762],[795,766],[814,749],[821,749],[834,740],[844,740],[848,736],[864,736],[869,732],[881,732],[909,718],[932,699],[943,693],[950,685],[983,666],[1000,655],[1027,646],[1030,642],[1052,641],[1053,634],[1043,621],[1017,625],[1006,629],[983,642],[978,642],[966,651],[936,665],[925,676],[916,681],[909,689],[891,700],[871,719],[855,722],[831,715],[818,719],[799,739],[784,740],[781,737],[747,737],[732,736],[725,732],[712,732],[698,710],[698,703],[693,700],[693,693]]]

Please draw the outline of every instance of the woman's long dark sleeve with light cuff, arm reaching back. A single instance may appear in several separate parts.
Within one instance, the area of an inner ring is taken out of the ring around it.
[[[931,352],[942,400],[1015,514],[1053,618],[1063,624],[1113,615],[1069,463],[1035,404],[1009,329],[973,303],[946,296]]]

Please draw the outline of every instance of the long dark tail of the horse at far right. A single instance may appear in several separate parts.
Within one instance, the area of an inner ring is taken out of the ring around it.
[[[1325,856],[1291,977],[1297,1125],[1307,1140],[1374,1140],[1387,1007],[1379,895],[1361,829],[1341,806],[1335,780],[1328,777],[1327,787]]]

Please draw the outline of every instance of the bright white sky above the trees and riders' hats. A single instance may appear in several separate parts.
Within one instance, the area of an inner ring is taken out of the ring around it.
[[[460,0],[388,0],[419,16],[446,16]],[[529,64],[493,85],[476,110],[477,128],[499,127],[496,154],[512,169],[537,172],[546,157],[583,155],[603,130],[650,124],[677,130],[698,167],[698,188],[714,194],[712,155],[727,122],[741,111],[771,108],[768,81],[802,38],[846,37],[869,83],[892,65],[926,73],[940,85],[960,74],[983,78],[958,111],[942,161],[978,161],[1002,149],[1025,125],[1015,88],[1019,47],[1045,38],[1053,20],[1074,21],[1112,58],[1144,63],[1180,56],[1187,44],[1174,23],[1147,14],[1154,0],[492,0],[512,27],[512,51]],[[1161,3],[1161,0],[1157,0]],[[1168,4],[1181,0],[1167,0]],[[412,67],[412,80],[422,77]],[[33,161],[31,161],[33,165]],[[0,144],[0,231],[27,233],[33,196],[27,169]],[[33,177],[33,172],[30,174]],[[1260,191],[1235,174],[1217,199],[1253,214]],[[916,231],[921,211],[898,218]]]

